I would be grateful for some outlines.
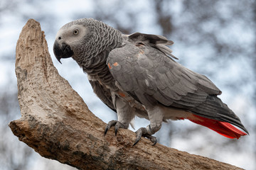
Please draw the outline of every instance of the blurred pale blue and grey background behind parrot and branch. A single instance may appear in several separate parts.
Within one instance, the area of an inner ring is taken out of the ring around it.
[[[45,159],[14,136],[8,127],[21,117],[15,48],[29,18],[41,23],[55,67],[107,123],[117,115],[93,94],[86,75],[73,60],[58,63],[53,42],[58,29],[78,18],[95,18],[122,33],[164,35],[174,41],[178,62],[205,74],[223,91],[220,98],[240,117],[250,136],[230,140],[188,120],[164,123],[159,143],[191,154],[256,169],[256,2],[229,0],[1,0],[0,1],[0,169],[74,169]],[[135,129],[149,124],[136,118]]]

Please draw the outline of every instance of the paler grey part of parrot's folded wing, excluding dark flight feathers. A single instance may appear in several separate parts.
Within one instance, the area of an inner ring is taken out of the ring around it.
[[[137,98],[143,98],[143,101],[147,101],[146,94],[166,106],[175,101],[179,106],[192,107],[206,101],[209,94],[220,94],[220,90],[206,77],[146,45],[136,46],[127,42],[124,47],[112,50],[107,62],[122,89],[141,94]],[[150,105],[150,101],[144,104]]]

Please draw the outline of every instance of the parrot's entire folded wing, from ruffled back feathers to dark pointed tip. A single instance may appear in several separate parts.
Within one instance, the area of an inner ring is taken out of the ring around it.
[[[147,40],[139,33],[132,36],[123,47],[112,50],[107,59],[122,90],[146,107],[161,103],[232,123],[246,131],[239,118],[217,97],[221,91],[210,79],[172,60],[165,47],[156,47],[169,44],[166,38],[146,35],[152,38]]]

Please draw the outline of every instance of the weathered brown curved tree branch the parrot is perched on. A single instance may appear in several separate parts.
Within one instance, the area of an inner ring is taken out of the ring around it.
[[[239,169],[142,140],[105,123],[60,77],[48,52],[41,26],[33,19],[23,27],[16,46],[16,77],[21,118],[9,123],[14,135],[42,157],[78,169]],[[86,89],[85,89],[86,90]]]

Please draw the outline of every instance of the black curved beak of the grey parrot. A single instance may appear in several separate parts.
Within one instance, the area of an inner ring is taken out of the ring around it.
[[[60,59],[62,58],[69,58],[74,55],[74,52],[73,50],[71,50],[70,45],[67,45],[65,42],[59,44],[58,41],[56,40],[53,45],[53,53],[56,59],[58,60],[58,62],[60,62]]]

